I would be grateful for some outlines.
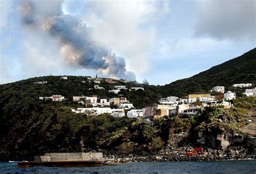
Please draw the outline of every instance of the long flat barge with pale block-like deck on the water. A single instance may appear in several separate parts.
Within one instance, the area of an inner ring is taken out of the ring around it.
[[[44,156],[35,156],[35,161],[18,162],[19,168],[31,166],[102,166],[105,159],[102,153],[46,153]]]

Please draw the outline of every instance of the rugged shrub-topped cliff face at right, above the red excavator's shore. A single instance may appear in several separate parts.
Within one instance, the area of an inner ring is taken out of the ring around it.
[[[246,134],[241,131],[246,125],[251,125],[245,115],[248,113],[243,108],[231,108],[210,111],[205,114],[207,118],[192,131],[195,144],[201,147],[226,150],[232,146],[242,146],[248,152],[255,154],[255,132]],[[254,115],[255,117],[255,115]]]

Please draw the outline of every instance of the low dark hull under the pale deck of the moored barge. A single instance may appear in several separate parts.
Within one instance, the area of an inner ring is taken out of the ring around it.
[[[52,166],[52,167],[95,167],[102,166],[104,159],[88,160],[88,161],[47,161],[47,162],[18,162],[19,168],[29,168],[31,166]]]

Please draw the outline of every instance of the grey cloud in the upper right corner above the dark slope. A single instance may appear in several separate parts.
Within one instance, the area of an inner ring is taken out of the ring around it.
[[[255,42],[255,0],[198,1],[196,35]]]

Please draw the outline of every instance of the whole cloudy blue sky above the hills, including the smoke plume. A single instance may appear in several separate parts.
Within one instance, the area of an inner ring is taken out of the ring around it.
[[[0,0],[0,84],[47,75],[164,85],[256,47],[255,0]]]

